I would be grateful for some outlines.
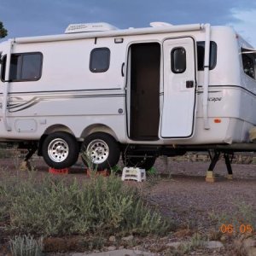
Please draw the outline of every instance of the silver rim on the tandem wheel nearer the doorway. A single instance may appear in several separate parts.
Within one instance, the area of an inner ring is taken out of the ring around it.
[[[94,164],[102,164],[105,160],[108,159],[108,144],[100,139],[93,140],[86,148],[86,152],[88,155],[90,155],[90,160]]]

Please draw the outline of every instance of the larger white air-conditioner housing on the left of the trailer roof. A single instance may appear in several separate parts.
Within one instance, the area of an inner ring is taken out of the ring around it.
[[[102,32],[116,29],[117,27],[112,26],[105,22],[70,24],[69,26],[67,26],[65,34],[80,32]]]

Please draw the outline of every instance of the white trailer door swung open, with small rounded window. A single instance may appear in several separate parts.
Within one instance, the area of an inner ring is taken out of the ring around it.
[[[161,138],[189,138],[195,125],[196,61],[191,37],[166,39]]]

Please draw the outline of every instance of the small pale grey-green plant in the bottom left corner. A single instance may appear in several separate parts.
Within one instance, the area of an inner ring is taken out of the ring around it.
[[[43,237],[35,240],[33,236],[15,236],[9,241],[13,256],[40,256],[43,255]]]

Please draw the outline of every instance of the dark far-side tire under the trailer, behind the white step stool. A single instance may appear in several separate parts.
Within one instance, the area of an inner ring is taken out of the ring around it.
[[[127,157],[125,154],[122,154],[122,160],[125,166],[128,167],[139,167],[148,171],[154,166],[156,160],[155,157]]]

